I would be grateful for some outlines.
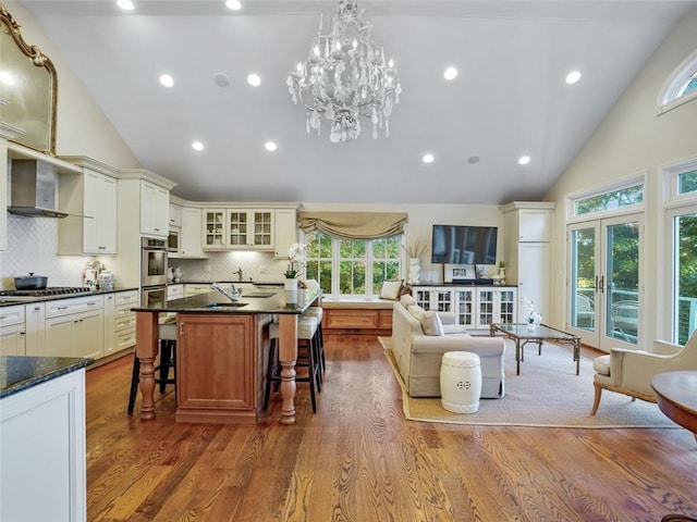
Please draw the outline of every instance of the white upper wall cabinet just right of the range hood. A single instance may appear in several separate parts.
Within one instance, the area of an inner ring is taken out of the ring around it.
[[[59,200],[71,215],[58,223],[58,253],[117,253],[117,192],[115,177],[85,166],[61,177]]]

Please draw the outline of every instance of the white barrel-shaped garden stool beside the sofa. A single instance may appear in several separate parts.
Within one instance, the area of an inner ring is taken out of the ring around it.
[[[440,397],[453,413],[475,413],[481,395],[479,356],[468,351],[443,353],[440,366]]]

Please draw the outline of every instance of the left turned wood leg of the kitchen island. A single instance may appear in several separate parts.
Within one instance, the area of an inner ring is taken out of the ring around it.
[[[155,359],[158,353],[159,323],[158,314],[136,312],[135,355],[140,360],[140,420],[155,419]]]

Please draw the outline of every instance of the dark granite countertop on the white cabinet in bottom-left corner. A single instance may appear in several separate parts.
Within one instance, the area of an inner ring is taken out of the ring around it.
[[[0,399],[88,366],[94,359],[73,357],[0,357]]]

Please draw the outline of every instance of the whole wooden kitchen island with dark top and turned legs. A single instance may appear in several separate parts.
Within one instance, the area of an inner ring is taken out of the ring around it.
[[[258,422],[268,324],[278,315],[281,422],[295,422],[297,318],[321,290],[254,290],[232,302],[218,291],[174,299],[136,312],[136,357],[140,360],[140,419],[155,419],[155,361],[160,316],[176,314],[176,420]]]

